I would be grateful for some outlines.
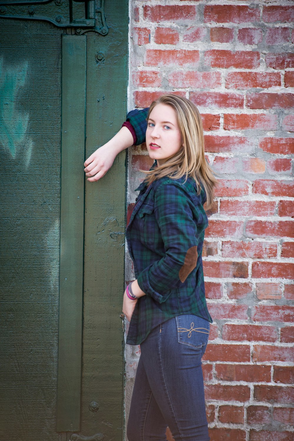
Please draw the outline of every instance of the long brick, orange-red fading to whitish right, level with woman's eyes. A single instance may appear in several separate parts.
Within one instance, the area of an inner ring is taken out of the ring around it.
[[[278,118],[276,115],[234,113],[224,114],[224,130],[262,129],[275,130]]]

